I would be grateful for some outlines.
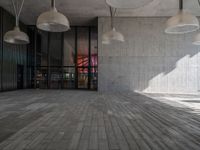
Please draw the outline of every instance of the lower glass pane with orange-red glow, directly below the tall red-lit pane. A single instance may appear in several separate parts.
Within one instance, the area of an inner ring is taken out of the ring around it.
[[[88,68],[78,68],[78,88],[88,88]]]

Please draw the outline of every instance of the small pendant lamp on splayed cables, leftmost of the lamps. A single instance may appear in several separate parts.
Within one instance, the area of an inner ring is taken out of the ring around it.
[[[22,0],[21,4],[19,4],[18,0],[16,2],[12,0],[12,4],[15,11],[16,23],[14,29],[8,31],[4,35],[4,41],[10,44],[28,44],[29,43],[28,35],[22,32],[19,28],[19,16],[24,4],[24,0]]]

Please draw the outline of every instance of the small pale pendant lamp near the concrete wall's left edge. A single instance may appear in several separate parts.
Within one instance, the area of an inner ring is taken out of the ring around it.
[[[120,33],[117,32],[114,25],[113,25],[113,16],[115,16],[116,9],[113,9],[110,7],[110,14],[111,14],[111,31],[108,31],[103,34],[102,36],[102,44],[110,44],[112,41],[119,41],[119,42],[124,42],[124,36]]]

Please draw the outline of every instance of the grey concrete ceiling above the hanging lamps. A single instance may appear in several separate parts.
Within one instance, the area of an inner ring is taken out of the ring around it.
[[[172,16],[178,10],[179,0],[154,0],[150,4],[137,9],[118,9],[117,16],[152,17]],[[34,25],[37,17],[50,8],[50,0],[25,0],[21,21]],[[13,14],[11,0],[0,0],[0,6]],[[105,0],[57,0],[57,9],[64,13],[72,25],[90,25],[98,16],[109,16]],[[184,8],[200,16],[198,0],[184,0]]]

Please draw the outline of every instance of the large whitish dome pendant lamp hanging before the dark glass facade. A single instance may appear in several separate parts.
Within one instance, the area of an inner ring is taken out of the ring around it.
[[[51,0],[51,9],[38,17],[37,28],[48,32],[65,32],[70,29],[68,19],[57,11],[55,0]]]

